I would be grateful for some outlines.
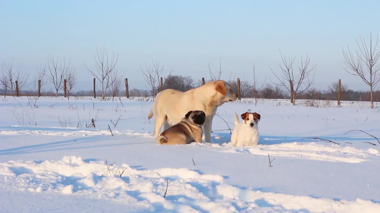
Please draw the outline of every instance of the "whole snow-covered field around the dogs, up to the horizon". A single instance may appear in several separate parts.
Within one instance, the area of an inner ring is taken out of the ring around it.
[[[345,134],[380,138],[378,105],[252,101],[218,115],[260,113],[257,147],[229,146],[228,130],[211,144],[163,146],[142,98],[2,97],[0,211],[380,212],[380,143]],[[220,117],[213,130],[228,128]],[[302,139],[311,137],[337,144]]]

